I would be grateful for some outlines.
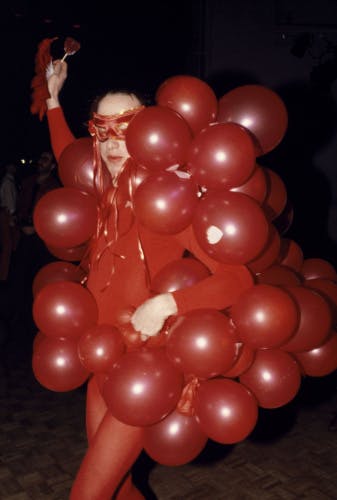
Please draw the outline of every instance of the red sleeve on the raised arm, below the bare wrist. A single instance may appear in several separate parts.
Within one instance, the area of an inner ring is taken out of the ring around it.
[[[66,122],[62,108],[53,108],[47,111],[50,142],[54,156],[58,161],[62,151],[72,142],[73,136]]]

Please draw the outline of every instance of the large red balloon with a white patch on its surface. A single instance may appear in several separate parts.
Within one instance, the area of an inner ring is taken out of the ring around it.
[[[196,207],[192,226],[201,248],[226,264],[253,260],[269,237],[269,224],[259,204],[230,191],[206,193]]]

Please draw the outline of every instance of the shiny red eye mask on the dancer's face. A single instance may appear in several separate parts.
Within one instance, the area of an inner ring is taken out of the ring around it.
[[[107,141],[109,138],[124,140],[125,130],[128,128],[130,121],[143,108],[144,106],[137,106],[137,108],[116,115],[93,113],[93,118],[89,121],[90,135],[96,136],[100,142]]]

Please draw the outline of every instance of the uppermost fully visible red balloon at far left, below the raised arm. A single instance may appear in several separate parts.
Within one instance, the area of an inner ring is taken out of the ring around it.
[[[95,232],[96,200],[78,189],[53,189],[37,202],[33,218],[36,232],[47,246],[75,247]]]

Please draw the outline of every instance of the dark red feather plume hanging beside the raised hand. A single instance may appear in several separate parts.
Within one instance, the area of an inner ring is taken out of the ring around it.
[[[30,84],[32,88],[30,111],[33,115],[39,115],[40,120],[42,120],[47,111],[46,99],[50,97],[46,71],[52,61],[50,46],[54,40],[57,40],[57,37],[45,38],[39,43],[35,56],[35,75]]]

